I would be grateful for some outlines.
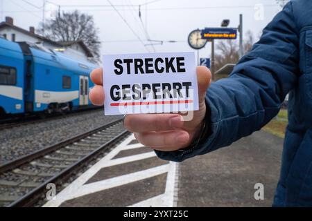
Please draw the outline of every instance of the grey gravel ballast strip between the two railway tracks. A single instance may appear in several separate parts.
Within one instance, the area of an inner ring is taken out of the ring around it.
[[[99,126],[121,119],[104,116],[103,110],[68,115],[47,122],[17,126],[0,131],[0,164],[67,140]]]

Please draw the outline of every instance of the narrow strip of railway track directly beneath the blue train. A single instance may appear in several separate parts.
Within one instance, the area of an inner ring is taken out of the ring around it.
[[[85,113],[86,111],[96,111],[96,110],[98,110],[98,108],[89,108],[85,110],[73,111],[71,113],[68,113],[67,115],[60,115],[60,114],[50,115],[50,116],[47,116],[46,118],[40,118],[36,115],[31,115],[26,118],[16,117],[13,119],[1,119],[0,131],[4,129],[15,128],[18,126],[24,126],[28,124],[48,122],[49,120],[53,120],[53,119],[62,119],[64,117],[68,117],[69,115],[79,115],[81,113]]]

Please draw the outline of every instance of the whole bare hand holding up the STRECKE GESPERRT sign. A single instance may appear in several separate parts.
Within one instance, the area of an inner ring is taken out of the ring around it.
[[[102,106],[105,101],[103,70],[94,70],[91,79],[96,86],[90,91],[89,98],[94,105]],[[125,117],[125,128],[134,132],[141,144],[159,151],[176,151],[189,146],[198,138],[205,118],[205,95],[211,83],[209,69],[198,67],[197,79],[199,111],[193,112],[191,121],[182,121],[178,114],[136,114]]]

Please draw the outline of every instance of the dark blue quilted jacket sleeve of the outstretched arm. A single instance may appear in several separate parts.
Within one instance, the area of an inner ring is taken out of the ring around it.
[[[206,95],[211,110],[209,138],[196,148],[156,151],[157,155],[181,162],[229,146],[270,122],[297,81],[298,35],[290,2],[266,26],[259,42],[239,61],[232,74],[211,84]]]

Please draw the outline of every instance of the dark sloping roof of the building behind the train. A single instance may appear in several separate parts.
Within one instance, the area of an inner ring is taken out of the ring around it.
[[[14,24],[8,23],[6,21],[3,21],[3,22],[0,23],[0,29],[1,28],[6,28],[6,27],[12,28],[14,30],[17,30],[19,32],[24,33],[25,35],[29,35],[31,37],[35,37],[35,38],[40,39],[42,41],[49,42],[50,44],[53,44],[55,46],[66,47],[66,46],[71,46],[73,44],[79,44],[83,48],[83,50],[85,50],[85,53],[86,53],[87,57],[94,57],[94,55],[92,54],[91,50],[89,50],[89,48],[85,45],[85,43],[82,40],[78,40],[78,41],[52,41],[51,39],[48,39],[48,38],[43,37],[41,35],[37,35],[37,34],[35,34],[33,32],[25,30],[23,28],[19,28],[19,27],[15,26]]]

